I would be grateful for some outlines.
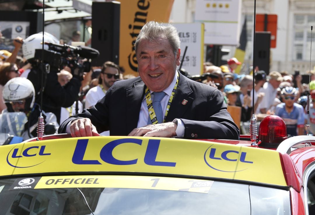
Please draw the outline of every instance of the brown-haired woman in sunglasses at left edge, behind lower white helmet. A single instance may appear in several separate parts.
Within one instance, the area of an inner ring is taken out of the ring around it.
[[[19,77],[19,70],[15,63],[3,63],[0,66],[0,112],[7,108],[2,97],[3,86],[12,78]]]

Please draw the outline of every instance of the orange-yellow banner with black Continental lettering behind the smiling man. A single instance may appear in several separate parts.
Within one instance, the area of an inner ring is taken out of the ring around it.
[[[138,76],[134,43],[141,28],[148,21],[169,22],[174,0],[120,1],[119,65],[125,74]]]

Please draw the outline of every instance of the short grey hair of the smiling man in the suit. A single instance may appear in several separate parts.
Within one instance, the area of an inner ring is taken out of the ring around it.
[[[167,39],[176,56],[177,51],[180,48],[180,38],[177,29],[171,24],[164,25],[163,23],[155,21],[147,22],[140,30],[135,41],[135,53],[137,54],[137,48],[141,40],[156,42],[158,38]]]

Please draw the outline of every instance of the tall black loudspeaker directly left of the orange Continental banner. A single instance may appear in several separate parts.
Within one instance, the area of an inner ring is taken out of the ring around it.
[[[106,61],[119,65],[120,2],[92,3],[91,47],[100,55],[92,60],[92,66],[101,66]]]

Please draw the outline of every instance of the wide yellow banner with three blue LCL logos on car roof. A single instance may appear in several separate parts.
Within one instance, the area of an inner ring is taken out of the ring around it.
[[[286,186],[276,151],[175,138],[100,136],[0,146],[0,165],[0,176],[138,172]]]

